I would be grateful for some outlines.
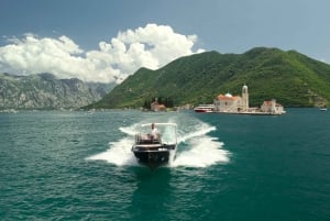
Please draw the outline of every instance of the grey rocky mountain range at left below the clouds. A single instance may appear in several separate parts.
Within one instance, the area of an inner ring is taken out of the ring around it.
[[[57,79],[52,74],[0,74],[0,110],[75,109],[100,100],[110,89],[111,85]]]

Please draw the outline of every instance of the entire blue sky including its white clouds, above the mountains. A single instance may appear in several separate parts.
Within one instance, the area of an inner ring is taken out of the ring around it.
[[[68,59],[57,60],[50,71],[79,77],[79,68],[88,69],[95,76],[82,73],[81,78],[113,81],[141,65],[155,69],[178,56],[244,53],[255,46],[296,49],[330,63],[329,9],[329,0],[0,0],[0,71],[46,71],[44,58],[63,53]],[[166,47],[174,53],[158,47],[167,40]],[[118,41],[125,47],[114,46]],[[50,43],[63,51],[51,51],[45,46]],[[185,47],[177,48],[180,45]],[[150,51],[154,47],[158,49]],[[32,60],[30,49],[32,57],[43,56]],[[121,59],[114,60],[114,54]],[[62,64],[67,62],[77,67],[65,69]],[[35,68],[40,63],[43,66]],[[107,65],[111,68],[105,69]]]

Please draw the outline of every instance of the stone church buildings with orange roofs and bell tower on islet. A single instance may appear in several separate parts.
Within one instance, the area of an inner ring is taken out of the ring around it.
[[[232,96],[231,93],[219,95],[215,99],[215,112],[240,113],[240,114],[283,114],[285,113],[282,104],[275,99],[264,101],[261,108],[249,107],[249,89],[242,87],[242,96]]]

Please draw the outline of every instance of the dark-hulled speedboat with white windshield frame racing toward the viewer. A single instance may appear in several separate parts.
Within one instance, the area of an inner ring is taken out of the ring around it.
[[[142,124],[135,134],[132,152],[138,162],[151,168],[165,165],[174,161],[177,147],[177,124],[154,123],[158,133],[152,135],[152,123]]]

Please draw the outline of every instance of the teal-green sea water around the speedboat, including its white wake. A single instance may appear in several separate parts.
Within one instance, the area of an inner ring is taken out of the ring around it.
[[[151,170],[136,125],[178,124]],[[0,220],[330,220],[330,111],[0,113]]]

